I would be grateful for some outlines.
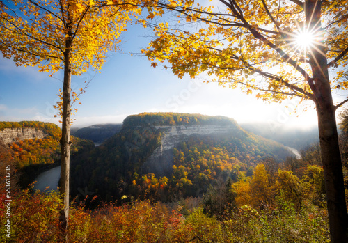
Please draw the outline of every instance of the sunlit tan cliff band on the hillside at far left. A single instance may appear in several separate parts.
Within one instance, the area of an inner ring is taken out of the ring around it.
[[[0,139],[6,144],[24,139],[43,139],[45,136],[45,132],[35,127],[6,128],[0,131]]]

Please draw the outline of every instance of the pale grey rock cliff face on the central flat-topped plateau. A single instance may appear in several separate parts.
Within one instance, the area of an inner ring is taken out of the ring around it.
[[[173,148],[187,141],[190,136],[219,136],[232,132],[235,125],[177,125],[177,126],[155,126],[162,133],[161,146],[148,157],[141,168],[142,173],[154,173],[156,176],[171,175],[174,159]]]

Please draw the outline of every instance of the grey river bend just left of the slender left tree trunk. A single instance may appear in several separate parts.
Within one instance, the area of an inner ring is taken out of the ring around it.
[[[47,191],[56,190],[58,187],[59,178],[61,178],[61,166],[50,168],[48,171],[40,173],[35,179],[34,190]]]

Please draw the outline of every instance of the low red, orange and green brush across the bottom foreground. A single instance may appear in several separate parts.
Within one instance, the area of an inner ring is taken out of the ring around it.
[[[281,173],[276,175],[276,181],[283,177]],[[246,185],[252,189],[256,181],[264,183],[262,175],[267,172],[259,164],[255,174],[246,178]],[[304,181],[295,180],[298,187],[303,187]],[[308,184],[306,189],[313,185]],[[240,189],[241,184],[230,186],[231,192],[236,187]],[[167,204],[146,200],[122,206],[102,203],[96,210],[72,202],[68,242],[328,242],[325,207],[314,205],[306,196],[299,207],[294,203],[296,197],[287,194],[291,187],[271,187],[269,190],[277,195],[271,203],[253,194],[248,194],[251,203],[241,203],[238,198],[245,195],[237,190],[232,192],[235,199],[229,201],[232,206],[224,207],[219,214],[206,211],[207,201],[202,204],[193,198]],[[269,192],[260,191],[258,196],[267,195]],[[8,240],[2,234],[1,241],[63,242],[58,226],[62,207],[57,192],[31,194],[29,189],[19,192],[12,203],[12,236]],[[1,222],[5,220],[3,214],[0,218]]]

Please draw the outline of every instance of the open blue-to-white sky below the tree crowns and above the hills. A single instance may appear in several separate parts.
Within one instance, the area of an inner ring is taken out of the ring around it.
[[[297,103],[269,104],[246,95],[239,89],[221,88],[216,84],[189,77],[178,79],[171,70],[152,68],[144,56],[131,56],[145,48],[150,29],[130,26],[122,36],[123,53],[110,55],[101,73],[86,72],[72,77],[72,87],[78,91],[84,81],[92,79],[81,105],[76,104],[73,126],[84,127],[96,123],[122,123],[130,115],[141,112],[182,112],[221,115],[235,118],[238,123],[267,123],[271,127],[317,124],[311,108],[306,113],[290,115]],[[58,89],[63,86],[62,74],[54,77],[38,72],[35,67],[16,67],[13,61],[0,58],[0,120],[41,120],[58,124],[53,109]],[[301,110],[301,107],[299,107]],[[298,117],[296,117],[298,116]]]

